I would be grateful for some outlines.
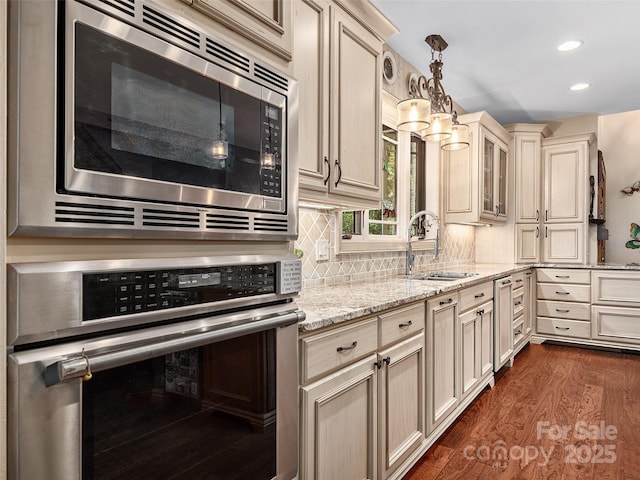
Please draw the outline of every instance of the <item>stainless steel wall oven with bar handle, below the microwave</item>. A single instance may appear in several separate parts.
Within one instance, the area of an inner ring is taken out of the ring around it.
[[[10,265],[9,478],[295,478],[300,273],[293,255]]]

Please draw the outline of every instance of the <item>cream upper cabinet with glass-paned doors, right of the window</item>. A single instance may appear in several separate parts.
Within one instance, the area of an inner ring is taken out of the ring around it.
[[[461,115],[471,142],[463,150],[444,151],[443,199],[446,223],[506,221],[508,143],[511,135],[488,113]]]

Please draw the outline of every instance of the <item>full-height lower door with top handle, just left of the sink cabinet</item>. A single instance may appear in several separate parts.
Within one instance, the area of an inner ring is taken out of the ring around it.
[[[439,425],[460,402],[458,385],[458,295],[441,296],[427,303],[429,431]]]

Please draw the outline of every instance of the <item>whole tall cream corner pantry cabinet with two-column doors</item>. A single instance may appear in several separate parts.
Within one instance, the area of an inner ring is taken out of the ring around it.
[[[586,263],[589,165],[595,134],[545,138],[545,125],[516,124],[515,255],[517,263]]]

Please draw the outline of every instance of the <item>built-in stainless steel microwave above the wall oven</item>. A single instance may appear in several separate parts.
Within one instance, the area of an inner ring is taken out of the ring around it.
[[[10,2],[11,235],[297,234],[297,82],[180,2]]]

